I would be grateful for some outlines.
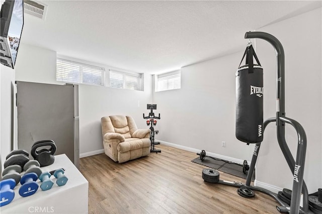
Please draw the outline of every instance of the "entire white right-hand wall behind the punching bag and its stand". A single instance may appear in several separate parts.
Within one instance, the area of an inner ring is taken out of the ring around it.
[[[250,29],[245,29],[245,32]],[[304,179],[309,192],[322,184],[321,161],[321,9],[259,29],[276,36],[285,49],[286,116],[306,131],[308,146]],[[240,35],[244,37],[244,35]],[[276,112],[276,54],[265,41],[256,50],[264,67],[264,119]],[[246,44],[246,41],[245,41]],[[157,139],[208,152],[251,159],[254,146],[238,142],[235,129],[235,71],[243,50],[181,69],[179,90],[153,92],[162,120]],[[286,127],[286,140],[295,156],[297,135]],[[221,147],[221,141],[226,147]],[[276,129],[264,134],[256,184],[273,191],[292,188],[292,173],[277,144]]]

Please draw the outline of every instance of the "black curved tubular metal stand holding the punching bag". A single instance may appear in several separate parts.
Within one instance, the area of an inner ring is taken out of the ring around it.
[[[254,148],[254,153],[252,157],[251,166],[247,175],[246,184],[239,182],[231,182],[219,180],[217,183],[235,186],[244,188],[243,191],[247,196],[248,191],[246,189],[257,190],[263,193],[266,193],[273,197],[280,206],[276,206],[276,208],[280,212],[284,213],[308,213],[308,191],[305,182],[303,181],[303,172],[304,172],[304,163],[305,163],[305,153],[306,153],[306,135],[303,127],[293,119],[285,117],[285,58],[284,58],[284,49],[282,44],[278,41],[274,36],[264,33],[264,32],[247,32],[245,34],[245,39],[258,38],[263,39],[269,42],[275,49],[277,55],[277,99],[276,99],[276,117],[267,119],[263,124],[263,133],[267,125],[271,122],[276,122],[277,129],[277,140],[278,144],[282,150],[282,153],[287,161],[287,164],[290,170],[293,172],[293,188],[292,188],[292,196],[291,196],[291,205],[289,206],[284,201],[282,201],[276,193],[264,189],[258,186],[251,186],[252,175],[254,173],[255,164],[257,160],[257,156],[260,150],[261,143],[257,143]],[[296,152],[296,160],[291,154],[289,150],[286,140],[285,140],[285,123],[290,124],[294,127],[298,136],[298,144],[297,144],[297,152]],[[205,169],[204,169],[205,170]],[[203,172],[203,174],[210,174],[209,172]],[[214,173],[213,173],[214,174]],[[218,175],[219,176],[219,175]],[[239,189],[240,189],[239,188]],[[240,190],[238,190],[240,191]],[[237,192],[238,192],[237,191]],[[300,197],[301,193],[303,194],[303,207],[300,209]]]

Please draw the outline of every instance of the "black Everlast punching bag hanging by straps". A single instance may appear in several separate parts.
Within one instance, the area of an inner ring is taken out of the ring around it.
[[[240,66],[246,56],[246,65]],[[253,56],[258,64],[253,63]],[[253,46],[246,48],[236,72],[236,138],[263,141],[263,68]]]

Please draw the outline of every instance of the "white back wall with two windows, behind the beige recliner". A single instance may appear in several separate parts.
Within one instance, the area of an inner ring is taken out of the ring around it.
[[[27,44],[19,47],[16,80],[64,84],[56,81],[56,52]],[[88,63],[86,61],[81,61]],[[96,64],[106,68],[107,65]],[[114,68],[115,69],[115,68]],[[121,114],[131,115],[138,128],[145,128],[142,113],[152,100],[151,76],[145,75],[144,91],[79,84],[79,152],[82,156],[103,149],[101,118]],[[138,106],[138,102],[140,105]]]

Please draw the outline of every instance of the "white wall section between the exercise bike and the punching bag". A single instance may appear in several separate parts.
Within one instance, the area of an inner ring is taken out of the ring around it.
[[[156,138],[250,160],[254,146],[235,138],[235,71],[241,56],[243,51],[183,67],[181,89],[153,92],[161,114]]]

